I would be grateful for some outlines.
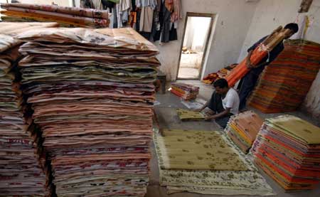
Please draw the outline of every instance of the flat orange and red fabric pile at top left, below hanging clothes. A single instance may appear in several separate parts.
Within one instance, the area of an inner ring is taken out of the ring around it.
[[[108,11],[37,4],[1,4],[3,21],[52,21],[87,28],[108,27]]]

